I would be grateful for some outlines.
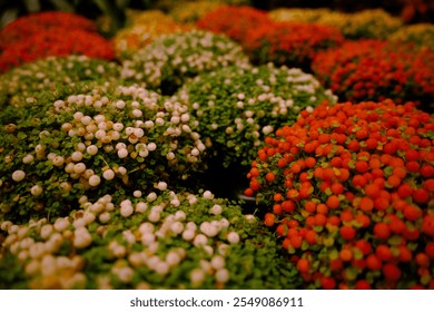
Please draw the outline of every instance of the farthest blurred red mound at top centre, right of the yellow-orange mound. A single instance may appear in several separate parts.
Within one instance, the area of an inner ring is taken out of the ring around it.
[[[236,17],[236,18],[235,18]],[[270,23],[267,13],[247,6],[223,6],[197,20],[200,29],[223,33],[237,42],[248,39],[248,31],[264,23]]]

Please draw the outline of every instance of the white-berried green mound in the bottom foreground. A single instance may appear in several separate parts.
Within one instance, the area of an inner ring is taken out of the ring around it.
[[[3,221],[0,287],[296,289],[295,265],[254,215],[158,183],[95,201],[58,218]],[[21,270],[14,270],[17,266]]]

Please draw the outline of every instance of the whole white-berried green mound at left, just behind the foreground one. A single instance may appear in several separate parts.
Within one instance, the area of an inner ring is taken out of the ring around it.
[[[178,187],[201,169],[205,145],[186,105],[136,86],[53,100],[28,97],[0,128],[0,216],[65,215],[77,198]]]

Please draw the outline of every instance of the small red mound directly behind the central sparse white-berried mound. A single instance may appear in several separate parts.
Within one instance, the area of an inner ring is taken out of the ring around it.
[[[249,31],[243,42],[253,62],[287,65],[304,70],[318,51],[343,43],[338,29],[303,22],[264,23]]]

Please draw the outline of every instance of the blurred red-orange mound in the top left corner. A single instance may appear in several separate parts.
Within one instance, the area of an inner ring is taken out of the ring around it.
[[[22,17],[0,31],[0,72],[50,56],[112,59],[111,43],[96,29],[95,22],[67,12]]]

